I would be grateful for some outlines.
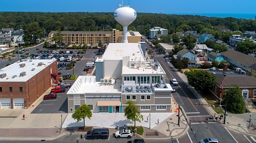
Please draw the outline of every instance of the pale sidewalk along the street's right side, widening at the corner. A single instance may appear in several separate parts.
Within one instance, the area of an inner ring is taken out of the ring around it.
[[[184,81],[184,83],[189,87],[189,89],[197,96],[197,98],[200,100],[200,102],[202,104],[208,104],[206,102],[206,100],[196,91],[196,89],[194,89],[194,87],[188,85],[187,83],[187,77],[185,76],[185,74],[180,73],[172,64],[169,63],[169,65],[172,67],[173,70],[175,70],[175,72],[179,75],[179,77]],[[209,106],[204,106],[205,109],[211,114],[214,115],[214,113],[216,113],[214,111],[214,109],[212,109]],[[252,112],[252,122],[256,122],[256,109],[250,109],[250,111]],[[228,114],[228,113],[227,113]],[[216,116],[220,116],[216,113]],[[249,113],[243,113],[243,114],[228,114],[226,116],[226,124],[223,124],[223,119],[221,120],[221,122],[219,122],[220,124],[222,124],[223,126],[242,133],[242,134],[248,134],[251,136],[256,136],[256,130],[252,130],[254,128],[251,127],[251,129],[248,129],[249,126]]]

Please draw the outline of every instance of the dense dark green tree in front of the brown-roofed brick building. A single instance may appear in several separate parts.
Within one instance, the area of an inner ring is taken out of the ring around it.
[[[227,104],[227,110],[231,113],[243,113],[243,96],[238,85],[232,85],[232,87],[225,91],[223,103]]]

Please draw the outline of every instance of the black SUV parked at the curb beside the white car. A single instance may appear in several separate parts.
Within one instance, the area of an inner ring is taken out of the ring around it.
[[[92,129],[88,131],[85,138],[92,139],[92,138],[102,138],[106,139],[109,137],[109,129]]]

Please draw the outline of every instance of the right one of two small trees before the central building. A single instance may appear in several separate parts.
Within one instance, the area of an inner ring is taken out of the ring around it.
[[[141,122],[143,120],[143,115],[138,110],[138,106],[135,105],[135,102],[128,100],[126,103],[127,107],[124,109],[124,116],[127,120],[134,122],[134,128],[136,126],[136,121]]]

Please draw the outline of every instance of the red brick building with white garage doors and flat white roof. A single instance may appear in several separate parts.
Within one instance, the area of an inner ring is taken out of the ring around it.
[[[0,70],[0,108],[28,108],[56,79],[56,60],[21,60]]]

